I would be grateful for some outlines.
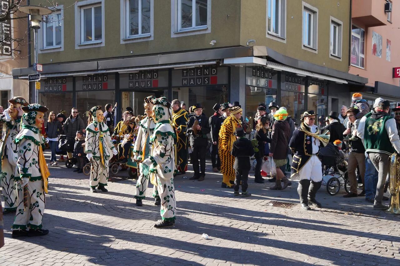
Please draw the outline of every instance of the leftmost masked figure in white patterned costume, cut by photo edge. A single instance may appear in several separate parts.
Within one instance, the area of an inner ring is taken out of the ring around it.
[[[8,100],[10,107],[16,108],[14,112],[18,112],[17,108],[26,106],[28,103],[22,97],[14,97]],[[2,125],[3,137],[0,146],[0,183],[2,184],[4,198],[4,214],[16,211],[18,204],[18,189],[14,177],[18,176],[18,145],[14,143],[16,135],[20,132],[21,116],[14,119],[10,114],[10,109],[4,111],[4,115],[0,118]]]

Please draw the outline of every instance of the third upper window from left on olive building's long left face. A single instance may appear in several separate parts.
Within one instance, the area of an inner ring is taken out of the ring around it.
[[[150,0],[127,0],[126,11],[126,36],[150,35]]]

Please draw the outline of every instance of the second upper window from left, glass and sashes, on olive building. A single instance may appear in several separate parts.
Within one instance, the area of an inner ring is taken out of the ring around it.
[[[102,40],[102,7],[84,7],[81,10],[82,44]]]

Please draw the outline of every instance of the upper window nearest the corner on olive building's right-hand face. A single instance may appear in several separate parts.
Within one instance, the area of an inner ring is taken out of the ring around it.
[[[268,34],[285,38],[286,0],[268,0],[267,8]]]

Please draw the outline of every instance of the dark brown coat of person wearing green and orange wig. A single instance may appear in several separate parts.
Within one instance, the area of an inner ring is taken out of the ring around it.
[[[290,126],[288,121],[275,120],[272,125],[272,141],[270,153],[273,153],[275,160],[287,158],[288,146],[290,141]]]

